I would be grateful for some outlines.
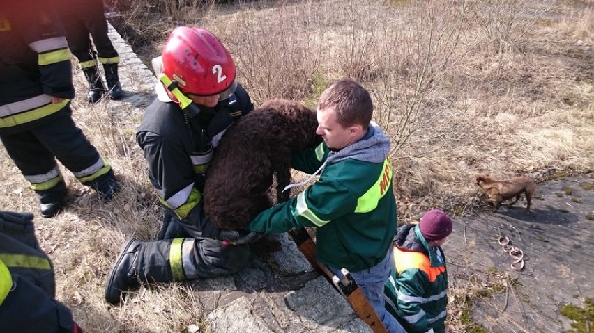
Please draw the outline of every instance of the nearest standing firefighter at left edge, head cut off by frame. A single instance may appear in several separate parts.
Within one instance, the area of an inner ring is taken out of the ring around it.
[[[112,199],[112,167],[72,119],[72,64],[52,3],[0,2],[0,73],[0,140],[38,195],[41,216],[55,216],[66,196],[56,159]]]

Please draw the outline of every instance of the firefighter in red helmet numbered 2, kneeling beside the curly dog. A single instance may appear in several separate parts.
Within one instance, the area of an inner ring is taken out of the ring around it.
[[[112,304],[145,282],[235,273],[248,261],[248,243],[261,237],[216,229],[203,209],[213,149],[227,127],[253,109],[229,52],[210,31],[182,26],[169,35],[153,67],[157,98],[136,138],[165,219],[158,241],[132,238],[123,245],[105,287]]]

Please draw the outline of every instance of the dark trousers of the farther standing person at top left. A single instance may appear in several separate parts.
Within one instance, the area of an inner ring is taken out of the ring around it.
[[[103,14],[102,0],[77,0],[57,2],[71,2],[68,6],[61,6],[60,19],[66,30],[68,48],[83,63],[93,60],[95,51],[101,58],[113,58],[118,56],[112,41],[107,35],[107,20]],[[93,44],[91,38],[93,36]]]

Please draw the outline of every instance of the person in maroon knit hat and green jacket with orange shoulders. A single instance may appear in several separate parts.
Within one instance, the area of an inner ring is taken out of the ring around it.
[[[441,245],[452,219],[433,209],[418,224],[399,228],[394,238],[395,271],[386,282],[386,308],[409,333],[445,333],[448,272]]]

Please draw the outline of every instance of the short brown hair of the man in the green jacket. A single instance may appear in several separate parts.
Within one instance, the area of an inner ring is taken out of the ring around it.
[[[342,79],[326,88],[318,99],[318,109],[333,107],[342,127],[362,125],[367,129],[373,115],[370,93],[353,79]]]

